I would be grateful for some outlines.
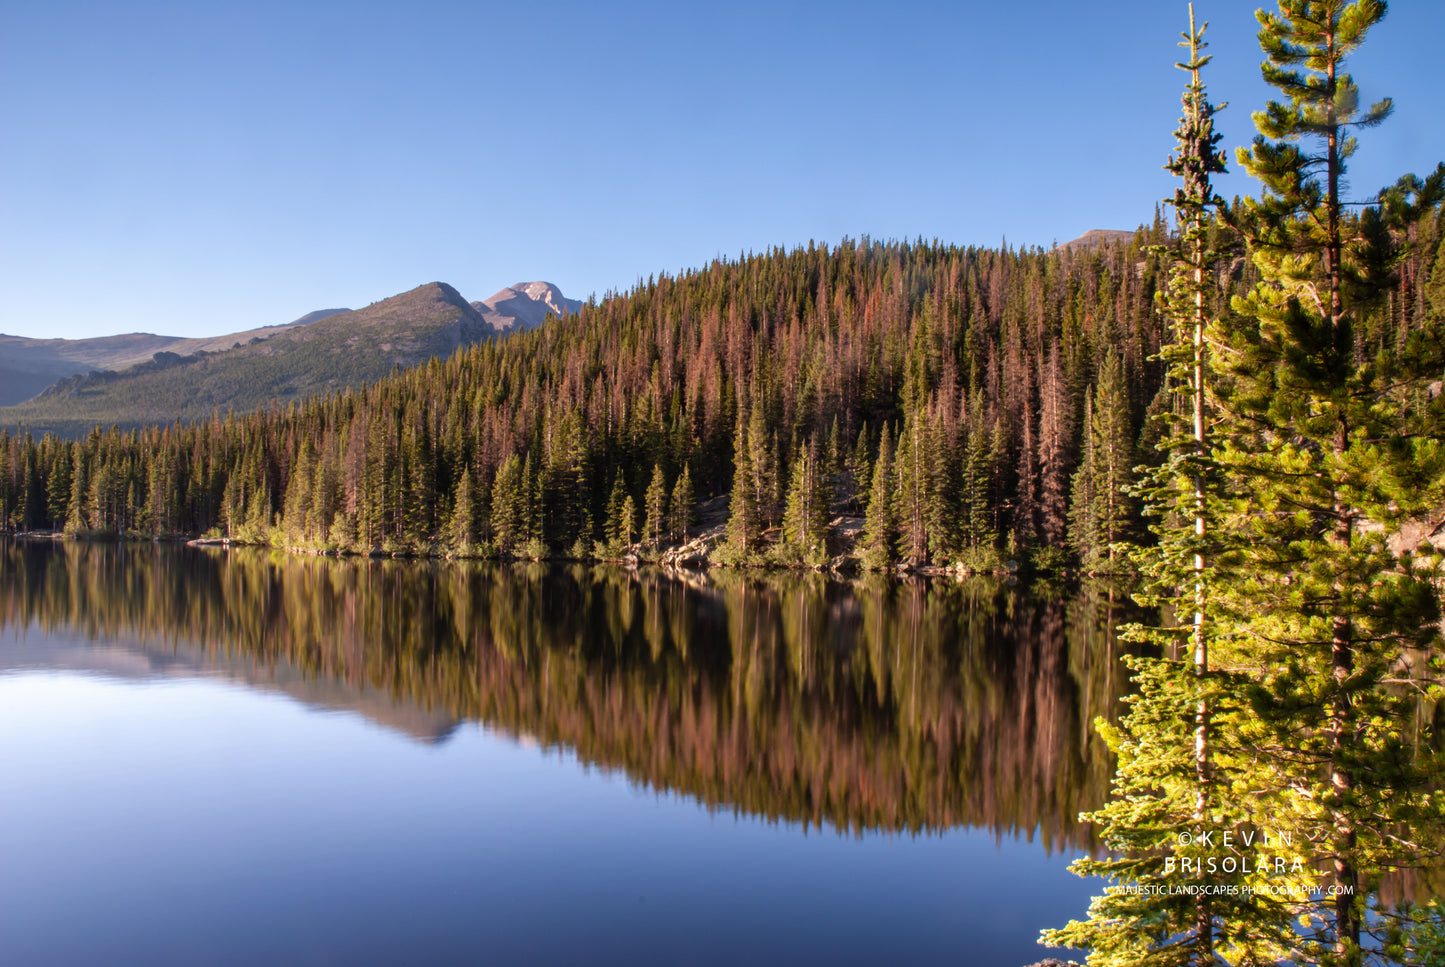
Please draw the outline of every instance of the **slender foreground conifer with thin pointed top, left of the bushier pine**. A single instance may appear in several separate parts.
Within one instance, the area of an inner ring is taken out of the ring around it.
[[[1220,762],[1211,731],[1211,726],[1231,727],[1240,708],[1237,702],[1220,707],[1221,695],[1230,694],[1228,679],[1209,666],[1209,645],[1217,636],[1208,594],[1209,525],[1218,499],[1208,438],[1205,325],[1218,253],[1208,244],[1208,220],[1218,201],[1211,176],[1224,171],[1224,159],[1214,130],[1217,108],[1199,75],[1209,61],[1202,53],[1205,26],[1195,25],[1191,4],[1189,30],[1181,43],[1189,56],[1178,65],[1189,72],[1189,85],[1175,132],[1176,153],[1168,165],[1181,181],[1173,198],[1179,238],[1168,253],[1170,282],[1160,302],[1172,330],[1163,357],[1179,406],[1162,416],[1168,424],[1160,445],[1166,460],[1139,487],[1157,536],[1157,543],[1137,554],[1147,588],[1143,603],[1185,620],[1169,629],[1133,629],[1136,639],[1157,646],[1159,653],[1130,658],[1137,691],[1118,727],[1104,729],[1118,756],[1116,796],[1085,817],[1100,825],[1111,856],[1084,857],[1071,867],[1081,876],[1107,876],[1111,885],[1094,899],[1087,921],[1042,937],[1046,944],[1087,948],[1088,963],[1101,967],[1205,967],[1221,958],[1270,963],[1287,950],[1289,937],[1286,905],[1256,901],[1241,890],[1251,880],[1246,870],[1253,870],[1266,850],[1257,844],[1243,848],[1240,841],[1225,846],[1220,835],[1205,846],[1201,835],[1233,830],[1243,820],[1230,796],[1217,791],[1221,783],[1228,789],[1241,772],[1227,756]],[[1105,364],[1101,393],[1113,392],[1111,366]],[[1092,549],[1090,538],[1095,548],[1104,545],[1111,519],[1108,460],[1100,454],[1111,441],[1100,431],[1107,418],[1100,419],[1092,400],[1085,413],[1091,425],[1074,516],[1075,526],[1088,535],[1084,549]],[[1217,775],[1220,766],[1222,775]],[[1214,869],[1208,867],[1211,860]],[[1289,866],[1285,869],[1287,873]],[[1296,876],[1295,882],[1302,880]],[[1181,886],[1204,889],[1173,892]]]

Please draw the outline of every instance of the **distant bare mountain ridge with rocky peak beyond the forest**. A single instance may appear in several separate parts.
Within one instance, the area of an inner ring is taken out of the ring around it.
[[[79,437],[95,425],[247,412],[360,387],[394,367],[447,357],[461,345],[535,328],[548,315],[579,308],[549,282],[519,283],[481,304],[468,302],[445,282],[429,282],[364,309],[322,309],[285,325],[202,340],[0,337],[0,376],[12,369],[39,371],[33,358],[43,353],[72,367],[48,380],[39,395],[0,408],[0,426]],[[87,366],[77,371],[81,360]],[[95,367],[104,361],[116,367]]]

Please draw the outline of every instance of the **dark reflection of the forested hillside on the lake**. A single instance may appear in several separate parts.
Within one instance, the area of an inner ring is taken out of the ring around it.
[[[26,629],[71,627],[152,674],[224,675],[422,740],[474,720],[709,808],[853,833],[1092,847],[1077,815],[1111,763],[1091,723],[1127,682],[1110,596],[983,578],[49,542],[0,543],[0,663]]]

